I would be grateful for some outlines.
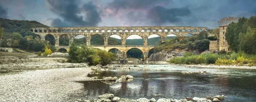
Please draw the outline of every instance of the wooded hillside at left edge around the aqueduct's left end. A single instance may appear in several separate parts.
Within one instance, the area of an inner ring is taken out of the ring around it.
[[[44,51],[49,46],[47,42],[37,39],[37,35],[29,28],[48,27],[36,21],[28,20],[9,20],[0,18],[0,36],[3,30],[1,47],[23,48],[31,51]],[[53,42],[54,43],[54,42]]]

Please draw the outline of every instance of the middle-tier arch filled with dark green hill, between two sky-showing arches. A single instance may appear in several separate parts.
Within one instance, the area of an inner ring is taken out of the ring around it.
[[[90,45],[104,45],[104,37],[100,34],[94,34],[91,36]]]

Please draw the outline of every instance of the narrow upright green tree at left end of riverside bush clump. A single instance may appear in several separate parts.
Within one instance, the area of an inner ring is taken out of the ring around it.
[[[76,46],[75,42],[72,42],[72,44],[70,45],[70,51],[68,51],[68,60],[67,62],[78,62],[78,47]]]

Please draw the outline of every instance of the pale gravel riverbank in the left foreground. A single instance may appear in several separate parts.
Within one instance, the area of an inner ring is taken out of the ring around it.
[[[0,75],[0,102],[67,102],[83,95],[90,68],[55,68]]]

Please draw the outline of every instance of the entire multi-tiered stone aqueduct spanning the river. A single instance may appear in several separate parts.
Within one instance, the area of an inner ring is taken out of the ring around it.
[[[160,36],[162,42],[165,41],[167,35],[174,34],[177,37],[185,36],[186,34],[198,34],[199,32],[205,30],[207,27],[190,27],[190,26],[144,26],[144,27],[39,27],[30,28],[35,34],[37,34],[41,40],[45,40],[46,35],[52,35],[55,38],[55,46],[59,46],[59,37],[62,35],[67,35],[69,38],[69,43],[73,42],[74,37],[77,35],[83,35],[86,37],[87,45],[90,45],[90,40],[94,35],[101,35],[104,38],[104,48],[103,46],[94,46],[94,48],[99,47],[99,49],[117,48],[121,52],[128,51],[128,48],[138,48],[143,54],[148,53],[148,51],[153,48],[148,45],[148,37],[152,34],[157,34]],[[121,37],[122,46],[108,45],[108,38],[116,34]],[[139,35],[143,40],[143,46],[125,46],[126,39],[133,34]],[[60,47],[57,47],[58,49]],[[67,48],[67,47],[66,47]],[[144,50],[143,50],[144,49]],[[68,50],[68,49],[67,49]],[[146,52],[145,52],[146,51]],[[145,57],[145,56],[144,56]]]

